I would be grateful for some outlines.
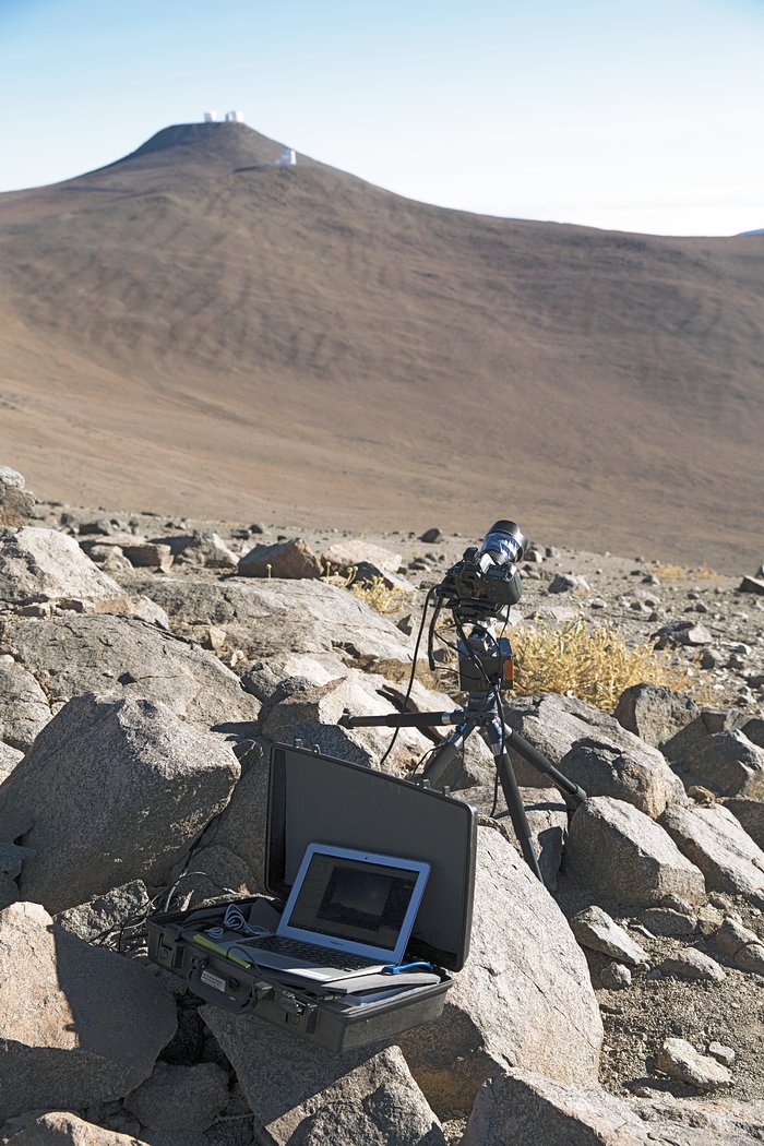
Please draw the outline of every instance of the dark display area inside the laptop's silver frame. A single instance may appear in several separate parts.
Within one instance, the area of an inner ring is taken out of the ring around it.
[[[410,869],[314,855],[290,926],[394,947],[416,882]]]

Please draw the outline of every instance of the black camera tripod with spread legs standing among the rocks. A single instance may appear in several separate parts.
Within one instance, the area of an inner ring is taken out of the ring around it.
[[[415,777],[415,779],[432,787],[449,786],[452,779],[456,779],[460,763],[460,749],[467,737],[476,730],[494,755],[498,780],[522,856],[533,873],[543,884],[538,859],[530,839],[530,827],[522,796],[510,759],[510,745],[539,772],[549,776],[554,786],[576,804],[586,799],[586,793],[558,771],[525,737],[507,727],[502,707],[501,688],[505,683],[505,666],[511,660],[509,641],[497,639],[491,627],[485,621],[475,623],[468,636],[465,636],[460,629],[459,631],[459,669],[463,691],[467,694],[466,707],[455,708],[451,712],[396,713],[386,716],[351,716],[345,714],[340,717],[339,723],[344,728],[373,725],[394,729],[427,729],[455,724],[455,730],[442,744],[432,749],[424,769],[418,774],[418,777]],[[465,684],[466,688],[464,688]]]

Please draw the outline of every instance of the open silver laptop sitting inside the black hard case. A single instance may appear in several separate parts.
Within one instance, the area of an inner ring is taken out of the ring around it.
[[[310,843],[273,935],[226,932],[229,958],[318,982],[367,975],[404,956],[430,864]]]

